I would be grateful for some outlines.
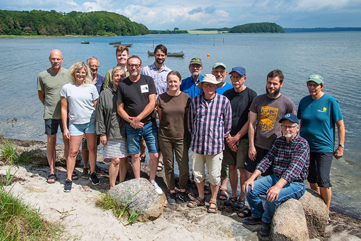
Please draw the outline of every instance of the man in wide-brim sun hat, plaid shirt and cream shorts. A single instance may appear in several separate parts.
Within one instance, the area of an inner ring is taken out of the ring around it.
[[[213,74],[204,75],[202,81],[197,84],[197,87],[203,90],[203,94],[191,100],[188,115],[188,130],[191,134],[190,160],[199,196],[187,206],[205,205],[206,163],[212,193],[207,211],[211,213],[217,212],[216,201],[225,149],[224,139],[232,128],[231,103],[227,97],[215,91],[222,85],[223,82],[217,81]]]

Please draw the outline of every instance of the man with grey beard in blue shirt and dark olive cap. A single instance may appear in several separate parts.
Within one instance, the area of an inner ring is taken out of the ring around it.
[[[201,74],[203,70],[202,60],[200,58],[191,59],[188,69],[191,75],[188,78],[182,79],[182,84],[179,89],[187,93],[190,98],[194,98],[197,95],[203,94],[203,91],[197,87],[203,79]]]

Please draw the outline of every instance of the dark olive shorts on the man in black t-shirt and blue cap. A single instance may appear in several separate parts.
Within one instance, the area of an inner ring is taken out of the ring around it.
[[[241,138],[236,145],[237,152],[234,152],[228,147],[227,142],[225,141],[222,165],[231,165],[236,166],[237,169],[244,169],[244,162],[248,156],[249,140],[248,138]]]

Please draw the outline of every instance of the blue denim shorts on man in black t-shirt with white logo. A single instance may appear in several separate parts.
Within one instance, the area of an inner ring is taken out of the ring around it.
[[[158,128],[155,122],[149,122],[140,129],[134,129],[130,124],[125,124],[127,131],[128,154],[136,154],[141,151],[142,137],[147,144],[149,153],[158,153]]]

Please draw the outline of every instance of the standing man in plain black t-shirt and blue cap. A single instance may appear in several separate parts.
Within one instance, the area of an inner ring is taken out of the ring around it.
[[[231,82],[234,88],[226,90],[226,96],[232,107],[232,130],[225,139],[225,150],[223,151],[223,165],[229,166],[229,180],[232,188],[232,197],[225,201],[225,205],[242,209],[244,207],[245,195],[241,191],[237,197],[238,173],[242,186],[248,179],[247,171],[244,169],[244,162],[248,156],[248,112],[249,106],[257,96],[256,92],[247,88],[244,82],[247,79],[245,69],[234,67],[230,72]],[[238,198],[238,199],[237,199]],[[249,210],[248,210],[249,211]],[[251,211],[249,211],[251,213]],[[243,216],[247,211],[243,212]]]

